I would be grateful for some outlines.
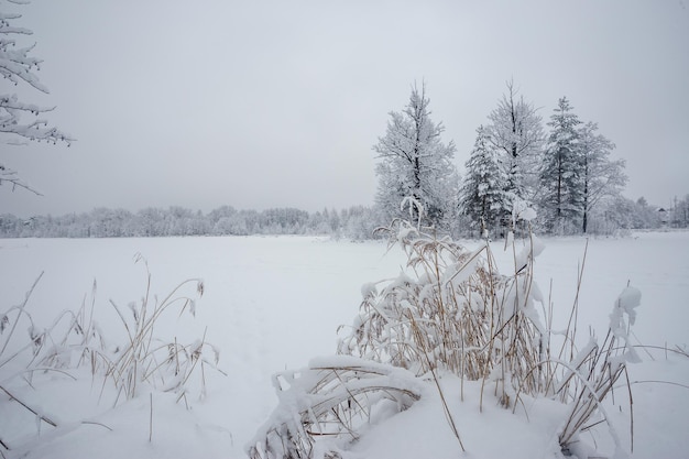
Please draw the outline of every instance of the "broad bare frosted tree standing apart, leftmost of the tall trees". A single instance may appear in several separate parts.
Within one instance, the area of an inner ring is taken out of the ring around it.
[[[406,108],[390,113],[387,131],[373,146],[381,160],[375,168],[375,201],[391,219],[404,215],[401,203],[412,197],[423,206],[425,223],[446,227],[457,209],[458,175],[451,163],[455,144],[440,140],[445,128],[430,119],[429,102],[425,85],[420,92],[415,86]]]

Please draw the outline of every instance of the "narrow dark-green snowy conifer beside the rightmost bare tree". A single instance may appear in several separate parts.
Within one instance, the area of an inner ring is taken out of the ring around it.
[[[572,112],[567,97],[559,99],[554,111],[548,122],[550,134],[540,170],[540,205],[546,214],[546,226],[562,231],[576,223],[583,205],[581,121]]]

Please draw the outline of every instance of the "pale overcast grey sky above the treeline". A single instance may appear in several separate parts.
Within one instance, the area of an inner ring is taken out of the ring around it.
[[[567,96],[626,160],[625,196],[669,205],[689,193],[687,3],[2,3],[44,59],[51,95],[24,100],[78,141],[1,145],[44,196],[0,187],[0,214],[370,205],[371,146],[415,80],[463,172],[510,78],[544,122]]]

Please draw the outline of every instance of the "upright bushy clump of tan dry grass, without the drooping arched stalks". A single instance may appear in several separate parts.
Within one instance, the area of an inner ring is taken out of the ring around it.
[[[450,238],[424,234],[405,221],[390,228],[406,251],[407,267],[364,288],[360,314],[338,351],[402,367],[423,376],[449,371],[499,384],[505,404],[520,384],[529,393],[545,382],[529,370],[544,358],[545,329],[535,309],[532,259],[518,254],[515,273],[496,272],[490,247],[470,252]]]

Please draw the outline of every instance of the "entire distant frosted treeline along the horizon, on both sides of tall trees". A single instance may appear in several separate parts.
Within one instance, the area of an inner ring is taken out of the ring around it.
[[[222,206],[204,214],[183,207],[145,208],[138,212],[96,208],[90,212],[61,217],[20,218],[0,215],[0,238],[141,238],[172,236],[250,236],[324,234],[351,240],[372,239],[373,232],[389,225],[375,207],[353,206],[307,212],[296,208],[238,210]],[[591,234],[612,234],[634,229],[661,227],[689,228],[689,196],[672,203],[669,209],[617,197],[591,216]],[[546,233],[535,221],[534,230]],[[451,228],[459,238],[479,234],[467,217],[459,217]]]

